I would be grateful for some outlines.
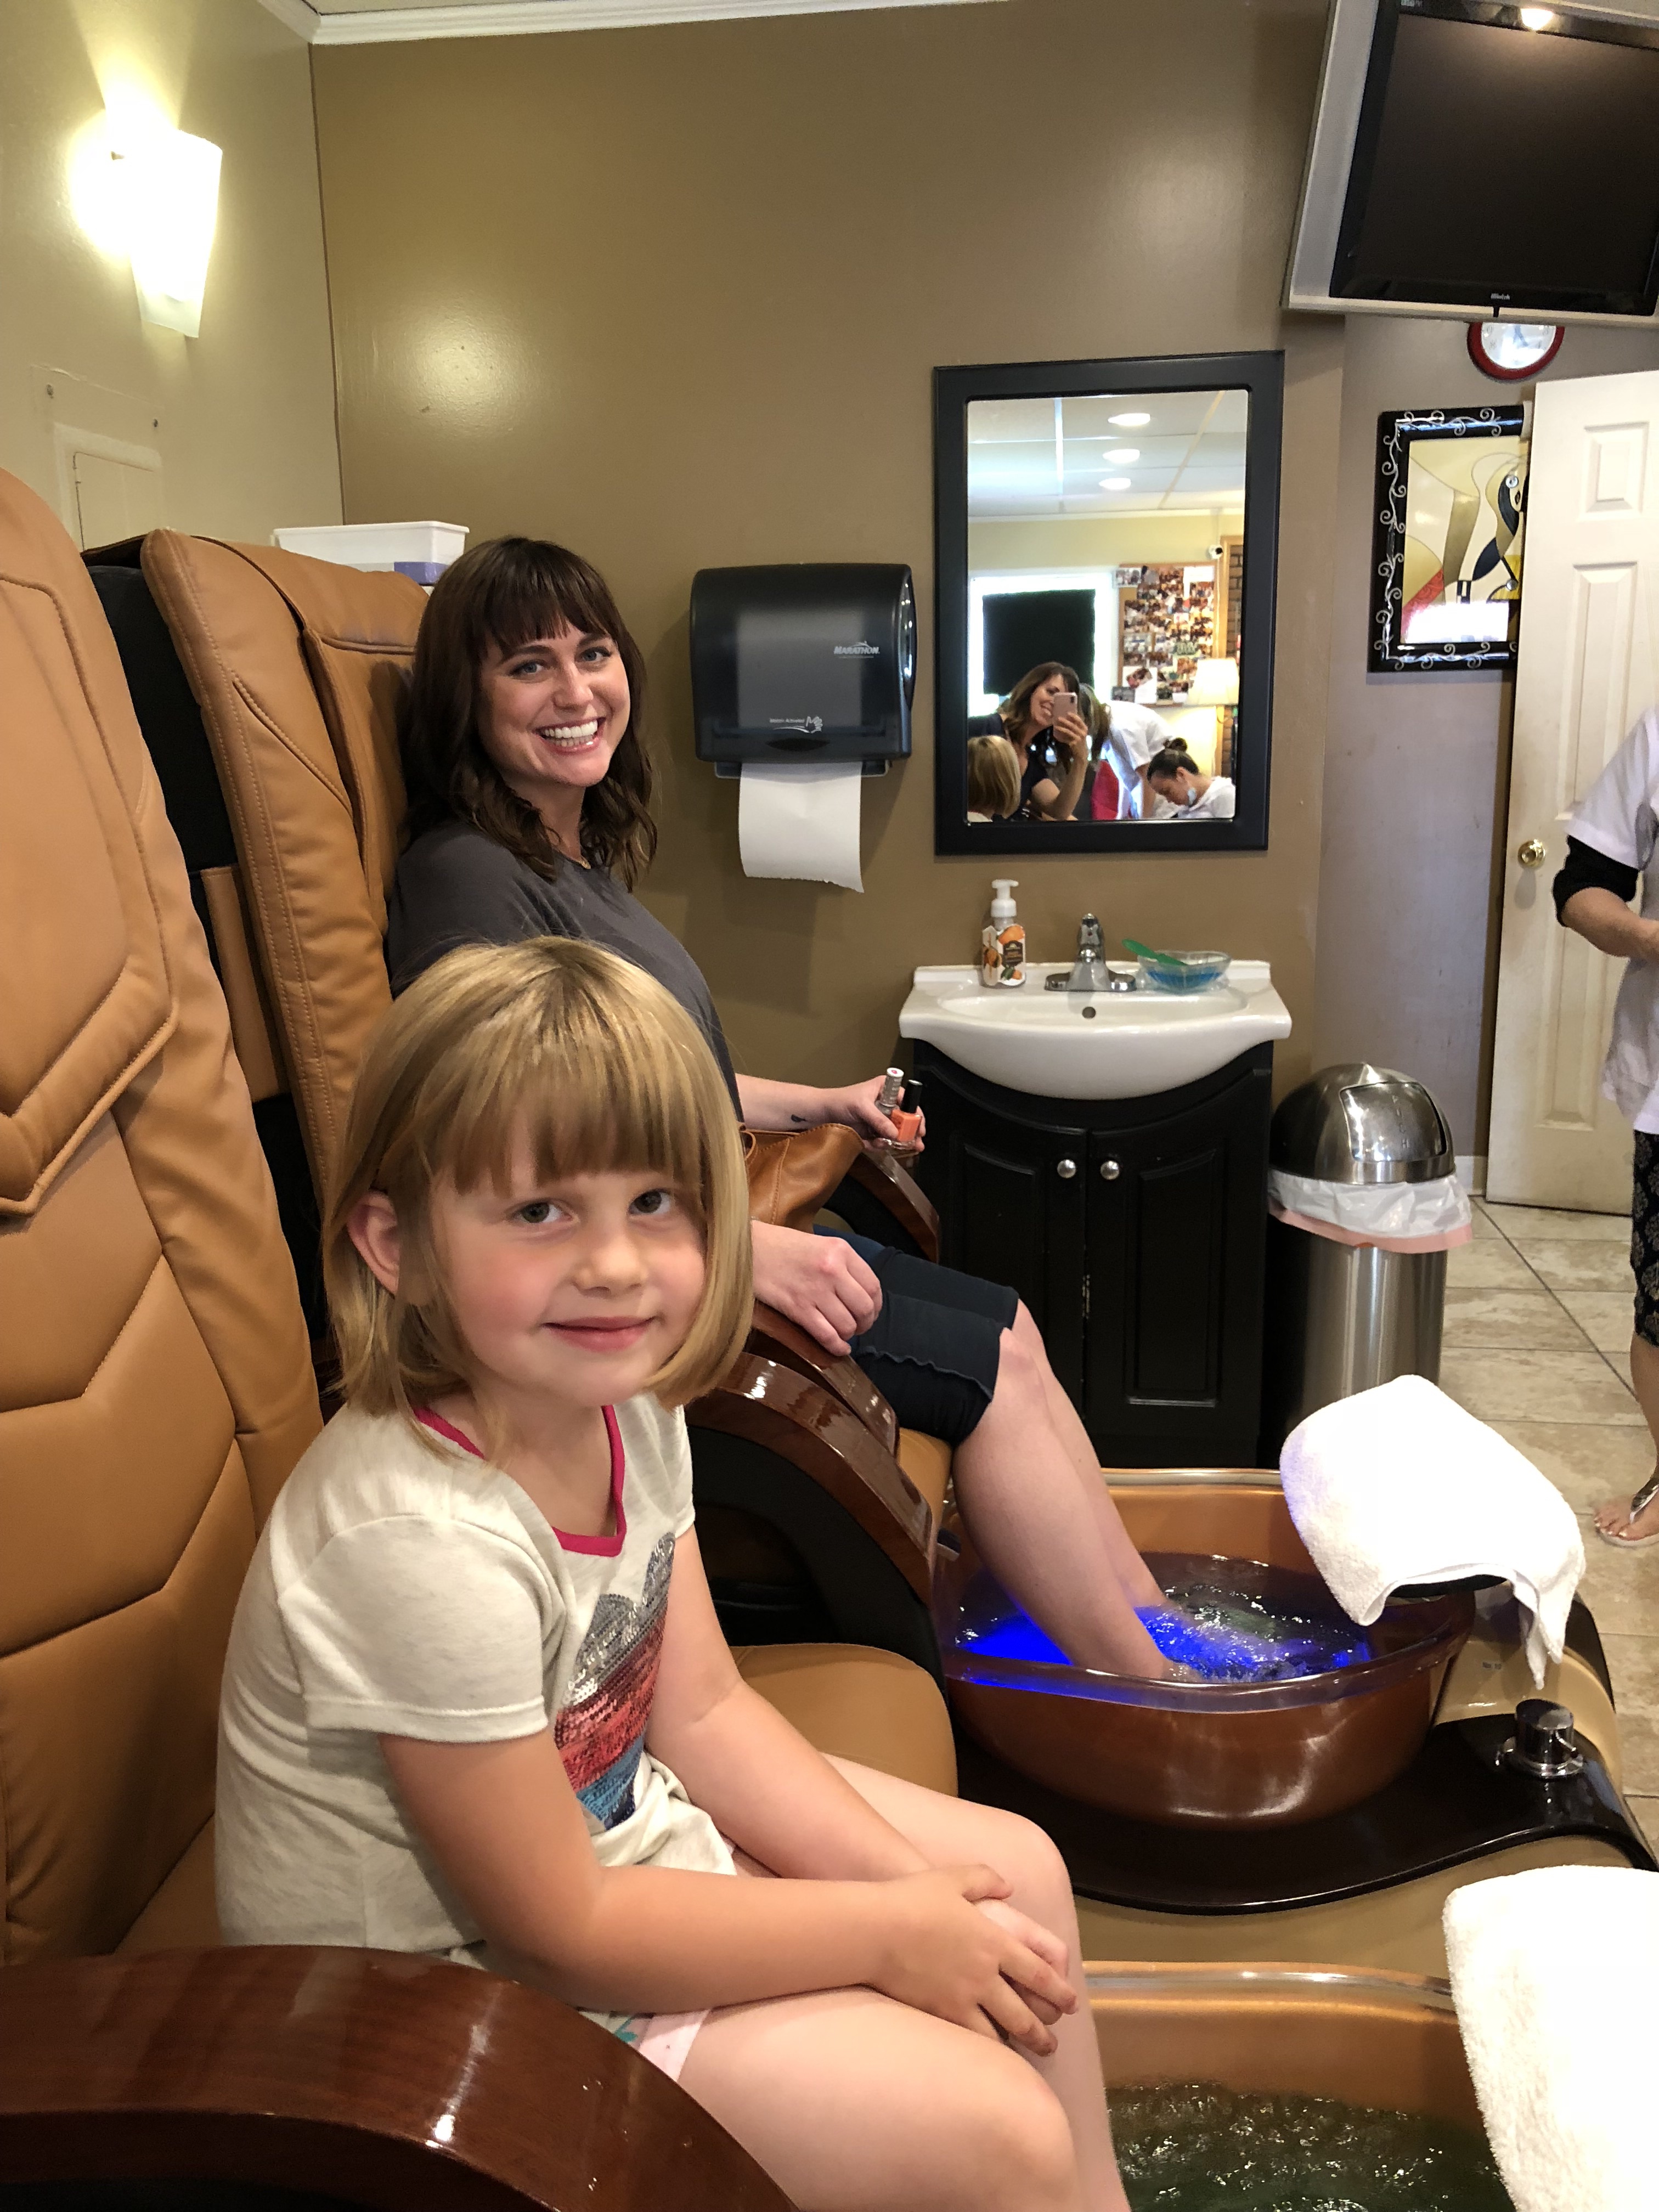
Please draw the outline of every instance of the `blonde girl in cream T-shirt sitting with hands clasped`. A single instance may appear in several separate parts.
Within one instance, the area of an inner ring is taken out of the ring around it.
[[[325,1225],[347,1405],[230,1639],[226,1938],[535,1982],[807,2212],[1124,2212],[1048,1840],[823,1759],[719,1632],[679,1407],[748,1250],[661,984],[542,938],[396,1002]]]

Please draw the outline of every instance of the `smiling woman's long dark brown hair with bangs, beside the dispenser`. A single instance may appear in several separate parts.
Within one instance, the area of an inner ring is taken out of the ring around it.
[[[484,752],[478,675],[489,653],[515,653],[566,626],[608,637],[628,677],[628,728],[604,781],[582,803],[582,852],[633,889],[657,852],[641,734],[646,664],[599,571],[542,538],[489,538],[434,584],[403,697],[407,836],[465,821],[538,876],[557,874],[560,854],[540,814]]]

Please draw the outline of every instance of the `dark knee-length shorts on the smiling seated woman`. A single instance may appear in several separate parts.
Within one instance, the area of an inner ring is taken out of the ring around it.
[[[1004,1283],[936,1267],[869,1237],[834,1234],[880,1283],[880,1314],[854,1336],[854,1360],[900,1429],[922,1429],[951,1447],[967,1442],[998,1387],[1002,1332],[1013,1327],[1020,1298]]]

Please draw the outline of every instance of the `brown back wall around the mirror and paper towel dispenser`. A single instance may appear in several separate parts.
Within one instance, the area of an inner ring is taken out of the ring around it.
[[[989,896],[933,858],[933,365],[1279,345],[1272,849],[1015,874],[1035,956],[1093,907],[1270,958],[1307,1066],[1343,330],[1279,288],[1321,31],[1318,0],[1009,0],[314,51],[347,515],[553,533],[611,575],[655,686],[646,898],[748,1068],[880,1066]],[[1053,126],[1062,84],[1099,128]],[[863,896],[745,880],[690,754],[692,571],[785,560],[916,568],[916,757],[867,794]]]

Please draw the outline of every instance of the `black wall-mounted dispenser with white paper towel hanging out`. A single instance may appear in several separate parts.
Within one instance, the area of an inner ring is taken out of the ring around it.
[[[909,754],[909,568],[699,568],[690,648],[697,757],[741,779],[743,874],[863,891],[863,781]]]

